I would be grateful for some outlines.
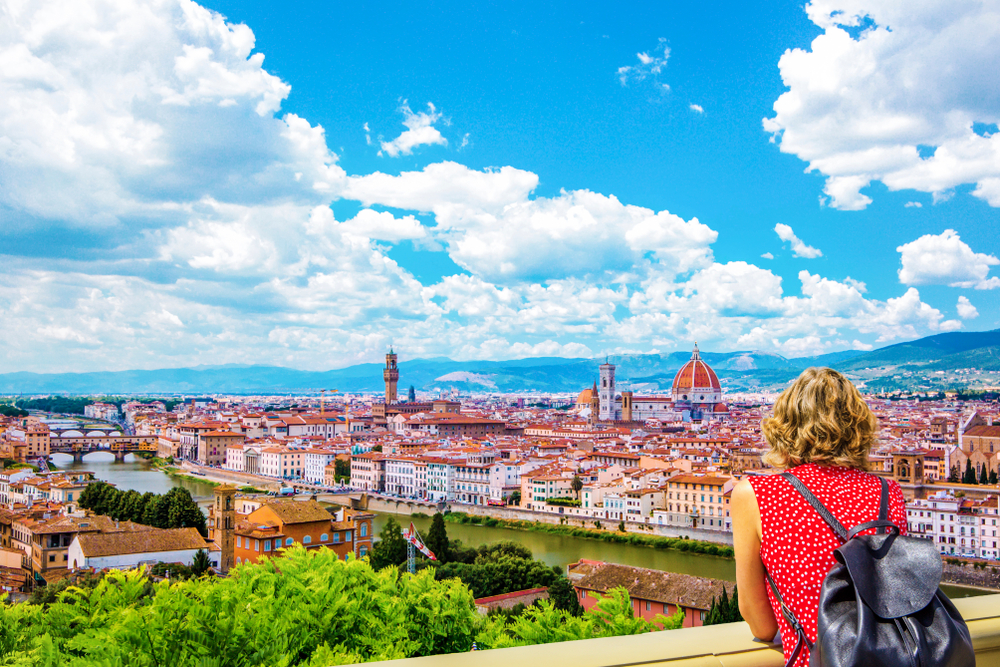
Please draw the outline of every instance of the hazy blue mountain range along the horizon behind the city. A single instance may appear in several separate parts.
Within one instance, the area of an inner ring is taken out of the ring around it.
[[[759,351],[702,352],[729,391],[777,389],[803,369],[830,366],[869,387],[948,388],[966,382],[962,369],[1000,371],[1000,329],[946,333],[879,348],[786,358]],[[668,389],[690,352],[611,355],[621,389]],[[538,357],[511,361],[454,361],[445,357],[403,361],[400,394],[457,388],[463,392],[575,392],[597,379],[604,359]],[[327,371],[232,364],[93,373],[4,373],[0,394],[196,394],[307,393],[320,389],[377,392],[381,364]],[[967,374],[966,374],[967,375]],[[995,374],[1000,382],[1000,374]],[[987,373],[989,376],[989,373]],[[951,383],[949,385],[949,383]]]

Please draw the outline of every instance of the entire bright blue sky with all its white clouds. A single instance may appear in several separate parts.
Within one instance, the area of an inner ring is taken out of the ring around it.
[[[980,3],[88,0],[0,33],[3,371],[1000,326]]]

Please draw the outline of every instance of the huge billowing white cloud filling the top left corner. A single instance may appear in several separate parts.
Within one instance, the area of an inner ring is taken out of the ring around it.
[[[193,2],[14,3],[0,34],[0,204],[35,224],[134,230],[343,176],[322,128],[274,117],[290,88],[250,29]]]

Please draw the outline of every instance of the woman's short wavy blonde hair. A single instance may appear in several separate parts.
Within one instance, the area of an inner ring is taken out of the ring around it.
[[[851,381],[830,368],[807,368],[761,422],[777,468],[820,463],[868,470],[878,420]]]

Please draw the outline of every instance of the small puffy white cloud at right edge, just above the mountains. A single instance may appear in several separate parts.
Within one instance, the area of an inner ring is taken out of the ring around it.
[[[1000,287],[1000,278],[987,277],[990,267],[1000,264],[1000,259],[973,252],[953,229],[946,229],[937,236],[926,234],[896,250],[902,256],[899,282],[904,285]]]

